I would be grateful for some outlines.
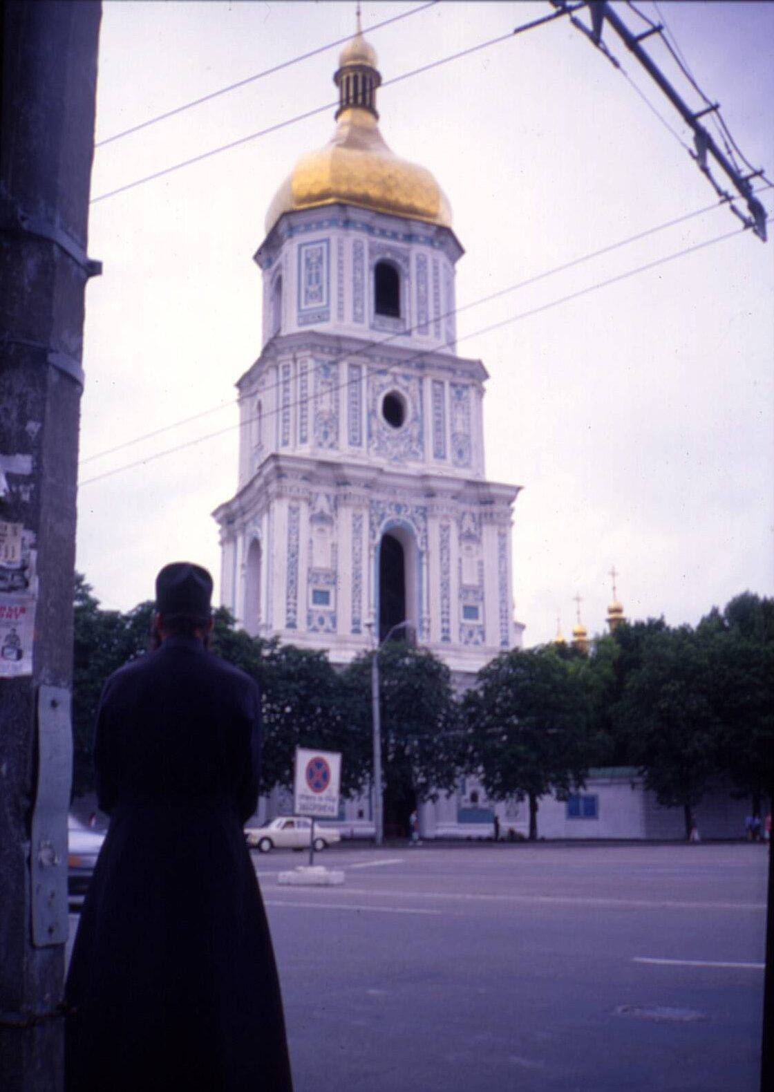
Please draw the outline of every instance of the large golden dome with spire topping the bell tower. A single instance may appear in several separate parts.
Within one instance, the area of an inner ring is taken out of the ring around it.
[[[358,27],[338,58],[338,124],[329,143],[302,155],[266,214],[266,235],[286,212],[343,204],[452,226],[440,186],[425,167],[398,158],[379,132],[376,108],[381,75],[377,55]]]

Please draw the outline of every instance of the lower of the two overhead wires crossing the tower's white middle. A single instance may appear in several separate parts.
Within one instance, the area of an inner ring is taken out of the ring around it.
[[[770,216],[767,217],[766,223],[771,223],[773,219],[774,216]],[[444,343],[443,347],[448,348],[451,345],[456,345],[459,342],[468,341],[471,337],[479,337],[483,334],[491,333],[495,330],[500,330],[503,327],[511,325],[514,322],[520,322],[523,319],[532,318],[535,314],[541,314],[543,312],[551,310],[555,307],[559,307],[562,304],[568,304],[571,302],[572,300],[581,299],[583,296],[587,296],[592,292],[596,292],[599,288],[606,288],[614,284],[620,284],[623,281],[628,281],[632,276],[639,275],[640,273],[645,273],[648,270],[657,269],[660,265],[666,265],[669,262],[677,261],[678,258],[684,258],[687,254],[692,254],[696,253],[700,250],[705,250],[707,247],[712,247],[715,244],[725,242],[727,239],[736,238],[740,235],[743,235],[745,232],[747,230],[749,230],[749,225],[745,225],[741,228],[736,228],[733,232],[727,232],[724,235],[714,236],[712,239],[705,239],[703,242],[696,242],[691,247],[686,247],[682,250],[678,250],[671,254],[666,254],[662,258],[657,258],[654,261],[645,262],[643,265],[638,265],[634,269],[627,270],[623,273],[618,273],[616,276],[607,277],[604,281],[598,281],[596,282],[596,284],[587,285],[585,288],[580,288],[577,292],[571,292],[565,296],[559,297],[558,299],[549,300],[549,302],[543,304],[539,307],[533,307],[527,311],[521,311],[519,314],[512,314],[507,319],[501,319],[499,322],[492,322],[489,325],[480,327],[478,330],[474,330],[471,333],[464,334],[462,337],[450,339]],[[424,357],[433,355],[437,352],[438,349],[431,349],[431,351],[421,349],[418,353],[415,353],[413,356],[407,357],[405,360],[395,364],[394,367],[378,369],[376,373],[390,376],[395,371],[395,369],[405,368],[406,365],[412,364],[417,359],[421,359]],[[357,351],[347,354],[347,358],[350,358],[352,356],[356,355]],[[337,383],[334,387],[331,387],[329,389],[329,392],[333,393],[335,391],[342,391],[349,387],[355,385],[358,382],[360,382],[359,376],[355,377],[354,379],[347,379],[343,383]],[[282,405],[278,405],[275,410],[267,411],[265,414],[263,414],[263,419],[265,420],[269,417],[278,416],[281,413],[285,413],[286,411],[289,411],[296,406],[301,405],[303,401],[306,400],[297,399],[296,401],[286,402]],[[102,482],[103,479],[112,477],[116,474],[121,474],[123,471],[134,470],[136,466],[145,466],[147,463],[155,462],[155,460],[157,459],[163,459],[166,455],[175,454],[178,451],[184,451],[187,448],[192,448],[198,443],[203,443],[205,440],[212,440],[218,436],[224,436],[226,432],[233,432],[235,429],[241,428],[245,425],[251,425],[257,419],[258,419],[257,416],[248,417],[245,420],[239,422],[237,425],[229,425],[226,428],[218,429],[215,432],[209,432],[206,436],[200,436],[193,440],[188,440],[184,443],[178,443],[172,448],[167,448],[164,451],[157,451],[152,455],[145,456],[144,459],[138,459],[133,463],[127,463],[123,466],[117,466],[111,471],[106,471],[104,474],[97,474],[95,477],[86,478],[84,482],[80,482],[79,488],[81,486],[92,485],[95,482]]]

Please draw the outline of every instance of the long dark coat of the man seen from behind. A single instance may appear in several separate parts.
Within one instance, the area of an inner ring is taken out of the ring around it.
[[[258,686],[195,638],[167,638],[108,679],[95,748],[111,819],[67,982],[68,1092],[290,1090],[242,832]]]

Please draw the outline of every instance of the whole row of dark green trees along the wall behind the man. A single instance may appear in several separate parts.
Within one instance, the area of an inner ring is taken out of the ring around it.
[[[83,577],[74,589],[74,793],[94,784],[93,732],[103,685],[150,645],[153,604],[104,610]],[[342,751],[343,791],[370,781],[371,653],[337,673],[322,652],[250,637],[214,613],[213,651],[260,684],[262,790],[290,786],[297,746]],[[638,765],[659,803],[691,810],[729,776],[753,810],[774,783],[774,600],[750,592],[695,629],[664,619],[623,624],[591,656],[549,645],[502,653],[462,702],[427,650],[379,652],[385,818],[404,826],[417,803],[477,773],[490,797],[531,803],[581,785],[591,765]]]

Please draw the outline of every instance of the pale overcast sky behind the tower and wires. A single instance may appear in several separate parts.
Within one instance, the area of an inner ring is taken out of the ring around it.
[[[364,26],[412,7],[366,3]],[[655,15],[650,0],[639,8]],[[659,8],[741,151],[774,177],[774,4]],[[549,11],[441,2],[368,37],[390,79]],[[97,140],[332,41],[355,19],[354,3],[108,0],[103,12]],[[605,39],[689,144],[609,27]],[[658,39],[645,46],[698,108]],[[98,147],[93,197],[332,102],[337,52]],[[676,135],[567,20],[386,87],[378,105],[393,151],[432,170],[451,201],[466,250],[459,306],[714,200]],[[151,597],[174,559],[206,565],[217,583],[210,513],[236,489],[234,383],[261,348],[251,256],[276,188],[333,127],[333,111],[318,115],[92,206],[104,273],[87,289],[82,459],[226,403],[83,463],[76,563],[105,606]],[[549,640],[558,613],[569,633],[576,593],[600,631],[612,563],[628,616],[671,625],[746,589],[774,591],[774,242],[739,234],[475,335],[737,226],[714,209],[460,316],[460,353],[490,375],[487,474],[524,487],[513,572],[526,644]]]

